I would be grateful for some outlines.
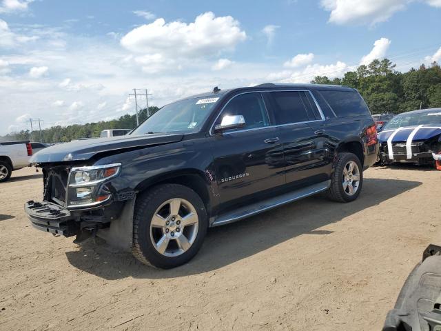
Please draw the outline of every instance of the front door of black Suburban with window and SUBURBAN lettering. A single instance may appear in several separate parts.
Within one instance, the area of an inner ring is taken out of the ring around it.
[[[226,115],[242,115],[245,126],[212,136],[221,209],[258,199],[265,190],[285,183],[280,132],[270,126],[260,92],[232,97],[214,126]]]

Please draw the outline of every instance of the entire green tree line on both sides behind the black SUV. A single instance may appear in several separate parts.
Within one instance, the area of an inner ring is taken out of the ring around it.
[[[433,62],[418,69],[398,72],[396,65],[389,59],[373,60],[368,66],[362,65],[356,71],[345,73],[342,78],[329,79],[317,76],[311,83],[344,85],[356,88],[365,99],[372,114],[386,112],[400,113],[420,108],[441,107],[441,68]],[[157,107],[150,107],[154,114]],[[140,121],[146,119],[146,112],[141,113]],[[52,126],[41,130],[45,143],[71,141],[79,138],[99,137],[105,129],[132,129],[136,127],[136,116],[125,114],[112,121],[74,124],[72,126]],[[12,132],[0,137],[0,141],[30,140],[39,141],[40,132],[29,130]]]

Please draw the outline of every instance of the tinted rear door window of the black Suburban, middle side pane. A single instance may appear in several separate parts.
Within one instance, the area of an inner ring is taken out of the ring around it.
[[[309,121],[305,104],[300,92],[271,92],[276,109],[276,124],[298,123]]]

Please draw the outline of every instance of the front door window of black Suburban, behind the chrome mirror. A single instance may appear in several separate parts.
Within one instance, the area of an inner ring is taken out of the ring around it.
[[[265,103],[263,103],[263,98],[258,92],[245,93],[233,97],[223,109],[214,126],[220,124],[225,115],[242,115],[245,119],[245,126],[243,128],[227,130],[227,132],[269,126]]]

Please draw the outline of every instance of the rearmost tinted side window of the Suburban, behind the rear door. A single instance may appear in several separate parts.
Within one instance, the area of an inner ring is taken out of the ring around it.
[[[365,101],[358,92],[320,91],[337,117],[370,115]]]

